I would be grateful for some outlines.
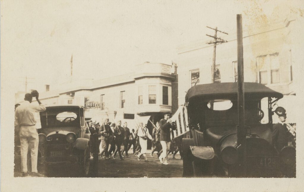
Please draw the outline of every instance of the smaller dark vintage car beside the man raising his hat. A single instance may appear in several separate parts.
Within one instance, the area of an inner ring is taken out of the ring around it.
[[[50,106],[40,112],[38,162],[43,166],[75,165],[80,176],[90,169],[90,134],[82,106]],[[92,138],[91,138],[92,142]]]

